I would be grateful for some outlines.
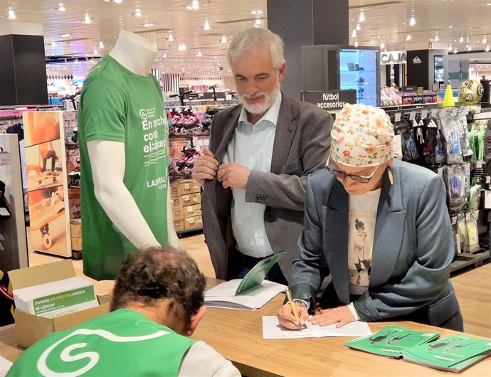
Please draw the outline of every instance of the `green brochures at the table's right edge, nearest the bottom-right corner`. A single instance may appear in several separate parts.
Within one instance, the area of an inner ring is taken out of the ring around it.
[[[403,359],[443,371],[460,372],[491,354],[491,340],[452,335],[402,352]]]

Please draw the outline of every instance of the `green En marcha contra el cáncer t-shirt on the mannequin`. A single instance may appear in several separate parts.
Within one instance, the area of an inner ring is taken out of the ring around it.
[[[78,107],[83,272],[113,279],[136,248],[107,217],[94,195],[87,143],[125,143],[123,182],[161,245],[167,238],[168,132],[159,84],[105,55],[90,71]],[[129,219],[131,221],[131,219]]]

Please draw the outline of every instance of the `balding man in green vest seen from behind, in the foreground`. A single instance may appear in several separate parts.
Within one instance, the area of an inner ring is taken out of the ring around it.
[[[117,274],[110,313],[41,339],[7,376],[241,376],[210,346],[188,337],[206,312],[205,285],[185,252],[133,253]]]

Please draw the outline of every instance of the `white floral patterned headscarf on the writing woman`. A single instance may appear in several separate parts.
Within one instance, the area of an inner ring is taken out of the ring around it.
[[[331,131],[331,159],[346,166],[377,166],[394,156],[394,126],[378,107],[345,105]]]

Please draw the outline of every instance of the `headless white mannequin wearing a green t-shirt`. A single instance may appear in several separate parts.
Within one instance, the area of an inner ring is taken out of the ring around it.
[[[168,180],[167,117],[150,73],[157,47],[121,31],[90,70],[78,107],[83,271],[113,279],[134,251],[182,250]]]

